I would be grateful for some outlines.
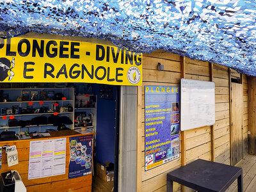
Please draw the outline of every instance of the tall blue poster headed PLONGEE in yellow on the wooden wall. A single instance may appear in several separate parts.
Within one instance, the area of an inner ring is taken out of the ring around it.
[[[145,170],[179,158],[180,89],[145,86]]]

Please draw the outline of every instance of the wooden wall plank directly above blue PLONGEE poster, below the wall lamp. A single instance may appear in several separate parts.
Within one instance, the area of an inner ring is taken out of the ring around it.
[[[180,73],[161,70],[143,70],[143,81],[159,83],[180,83]]]

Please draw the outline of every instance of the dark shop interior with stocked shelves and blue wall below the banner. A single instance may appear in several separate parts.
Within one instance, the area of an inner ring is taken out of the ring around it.
[[[113,191],[117,92],[118,86],[106,84],[0,83],[0,141],[36,139],[68,129],[96,132],[92,191]]]

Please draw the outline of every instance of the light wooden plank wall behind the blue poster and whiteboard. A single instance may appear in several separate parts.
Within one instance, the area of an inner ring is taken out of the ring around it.
[[[182,145],[180,139],[180,158],[145,172],[145,85],[180,86],[182,60],[177,54],[155,51],[143,54],[143,86],[138,87],[138,191],[166,191],[166,173],[182,165]],[[164,65],[164,70],[157,70],[157,63]],[[207,61],[185,58],[184,77],[215,82],[216,124],[214,140],[211,126],[186,131],[184,148],[186,163],[195,159],[211,161],[212,151],[216,162],[230,164],[230,76],[229,69]],[[248,81],[244,79],[244,143],[247,144],[248,127]],[[180,138],[182,138],[180,136]],[[212,147],[212,143],[214,147]],[[212,149],[213,148],[213,149]],[[245,147],[246,148],[246,147]],[[246,150],[244,150],[246,153]],[[174,191],[181,191],[181,186],[174,183]]]

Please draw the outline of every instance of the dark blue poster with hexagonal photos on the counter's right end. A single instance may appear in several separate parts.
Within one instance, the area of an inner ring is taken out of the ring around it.
[[[70,162],[68,179],[92,173],[93,135],[69,138]]]

